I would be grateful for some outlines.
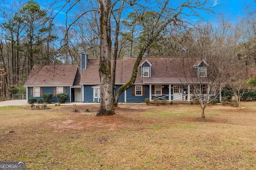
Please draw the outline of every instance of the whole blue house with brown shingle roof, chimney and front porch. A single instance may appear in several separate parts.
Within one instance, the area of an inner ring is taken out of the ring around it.
[[[117,60],[115,92],[130,80],[135,61],[135,57]],[[204,98],[209,83],[207,69],[208,63],[198,57],[145,57],[140,62],[134,85],[122,93],[118,102],[143,103],[145,98],[189,102],[195,95]],[[67,102],[100,102],[98,70],[99,60],[88,59],[86,54],[81,55],[81,74],[77,65],[34,66],[24,84],[27,98],[40,98],[46,92],[54,96],[66,92],[70,96]],[[198,82],[200,86],[194,86]],[[214,89],[211,93],[214,96]],[[53,102],[58,99],[54,97]]]

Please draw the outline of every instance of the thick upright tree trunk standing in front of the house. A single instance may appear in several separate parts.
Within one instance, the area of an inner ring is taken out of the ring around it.
[[[111,0],[98,0],[100,16],[100,109],[96,116],[115,114],[111,80]]]

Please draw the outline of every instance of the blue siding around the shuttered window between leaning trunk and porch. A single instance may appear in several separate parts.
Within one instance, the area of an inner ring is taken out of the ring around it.
[[[144,103],[145,98],[149,98],[149,85],[146,86],[146,96],[132,96],[132,87],[126,90],[127,103]]]

